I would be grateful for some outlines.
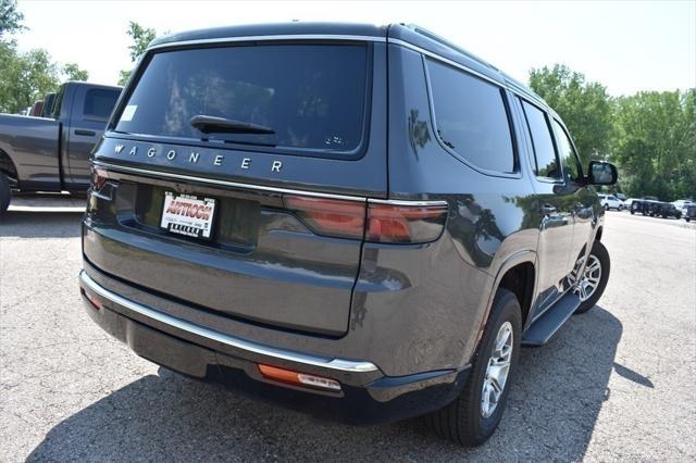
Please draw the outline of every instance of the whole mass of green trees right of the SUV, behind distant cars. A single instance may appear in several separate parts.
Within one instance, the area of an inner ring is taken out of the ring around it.
[[[532,70],[530,86],[568,125],[584,165],[608,159],[619,190],[672,201],[696,197],[696,89],[610,98],[598,83],[556,64]]]

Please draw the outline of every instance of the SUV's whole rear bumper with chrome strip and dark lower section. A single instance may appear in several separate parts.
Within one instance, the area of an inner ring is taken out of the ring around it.
[[[85,272],[79,284],[89,316],[138,355],[320,417],[371,424],[418,416],[451,402],[469,373],[468,368],[444,370],[390,377],[369,361],[316,356],[211,330],[124,298]],[[85,295],[101,308],[96,309]],[[332,378],[341,390],[276,383],[260,374],[259,363]]]

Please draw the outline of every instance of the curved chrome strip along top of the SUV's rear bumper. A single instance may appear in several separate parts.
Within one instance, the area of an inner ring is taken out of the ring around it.
[[[122,305],[128,310],[132,310],[133,312],[136,312],[150,320],[154,320],[157,322],[169,325],[173,328],[181,329],[183,331],[200,336],[212,341],[221,342],[225,346],[241,349],[259,355],[265,355],[274,359],[301,363],[304,365],[319,366],[322,368],[335,370],[339,372],[368,373],[378,371],[378,368],[371,362],[356,362],[344,359],[323,359],[321,356],[262,346],[256,342],[247,341],[245,339],[236,338],[234,336],[225,335],[223,333],[215,331],[200,325],[192,324],[185,320],[167,315],[165,313],[150,309],[146,305],[134,302],[129,299],[123,298],[99,285],[89,275],[87,275],[85,271],[82,271],[79,273],[79,280],[84,286],[89,288],[89,290],[96,292],[97,295],[113,303]]]

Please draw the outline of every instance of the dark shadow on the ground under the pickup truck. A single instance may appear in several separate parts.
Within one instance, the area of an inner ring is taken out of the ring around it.
[[[74,238],[84,211],[8,211],[0,218],[1,238]]]

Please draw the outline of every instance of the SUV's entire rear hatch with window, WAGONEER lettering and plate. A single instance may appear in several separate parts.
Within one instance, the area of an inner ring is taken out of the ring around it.
[[[150,51],[95,152],[98,270],[251,323],[340,336],[365,198],[386,196],[384,45]]]

